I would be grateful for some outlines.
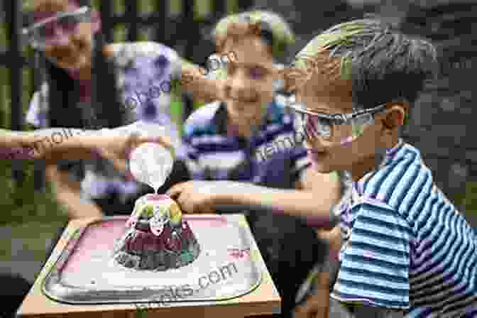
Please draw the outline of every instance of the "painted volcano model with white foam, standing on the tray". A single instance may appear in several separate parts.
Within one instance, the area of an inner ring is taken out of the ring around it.
[[[114,260],[136,270],[168,270],[192,263],[199,253],[177,203],[167,195],[146,194],[136,200]]]

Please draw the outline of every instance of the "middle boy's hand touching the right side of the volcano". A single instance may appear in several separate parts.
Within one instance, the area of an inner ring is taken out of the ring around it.
[[[221,194],[220,182],[189,181],[174,185],[168,195],[184,213],[214,213]]]

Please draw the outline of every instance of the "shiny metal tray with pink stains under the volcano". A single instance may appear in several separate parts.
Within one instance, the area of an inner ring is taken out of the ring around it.
[[[234,218],[233,216],[239,216]],[[104,217],[75,231],[43,281],[43,293],[68,304],[204,302],[241,297],[261,283],[253,236],[240,215],[183,215],[199,257],[166,271],[138,271],[111,255],[126,216]]]

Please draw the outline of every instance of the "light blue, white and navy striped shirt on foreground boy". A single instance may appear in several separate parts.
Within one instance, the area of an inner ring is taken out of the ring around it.
[[[409,317],[477,317],[477,234],[400,141],[353,182],[331,297]]]

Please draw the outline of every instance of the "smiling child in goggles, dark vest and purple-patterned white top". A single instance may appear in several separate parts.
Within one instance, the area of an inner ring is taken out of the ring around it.
[[[106,43],[102,21],[90,0],[33,1],[28,42],[45,57],[47,80],[43,97],[33,95],[26,115],[37,128],[114,128],[147,121],[168,126],[179,141],[170,119],[175,82],[194,94],[213,94],[213,81],[175,50],[155,42]],[[211,88],[212,87],[212,88]],[[172,90],[172,92],[171,92]],[[211,92],[212,91],[212,92]],[[187,180],[175,165],[168,180]],[[48,165],[46,175],[57,199],[71,217],[130,213],[135,199],[149,189],[125,180],[104,158],[65,160]]]

